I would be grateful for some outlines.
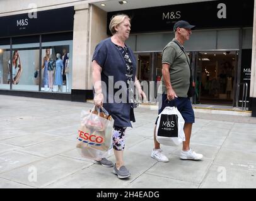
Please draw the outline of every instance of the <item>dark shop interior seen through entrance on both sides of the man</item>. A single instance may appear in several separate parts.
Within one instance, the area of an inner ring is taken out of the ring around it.
[[[192,57],[192,52],[188,52]],[[137,77],[140,81],[161,79],[161,53],[137,56]],[[195,104],[233,105],[236,51],[195,52]],[[193,62],[193,61],[192,61]]]

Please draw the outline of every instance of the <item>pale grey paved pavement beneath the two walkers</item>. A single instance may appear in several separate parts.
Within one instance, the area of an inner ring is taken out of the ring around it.
[[[161,146],[170,160],[161,163],[151,158],[156,108],[139,106],[124,151],[131,177],[120,180],[76,149],[80,112],[92,106],[0,95],[0,188],[256,187],[255,117],[195,110],[190,147],[203,160],[180,160],[181,146]]]

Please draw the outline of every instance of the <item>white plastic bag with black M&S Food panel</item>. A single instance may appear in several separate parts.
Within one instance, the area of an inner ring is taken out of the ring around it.
[[[177,107],[165,107],[158,115],[156,140],[167,146],[178,146],[185,141],[184,119]]]

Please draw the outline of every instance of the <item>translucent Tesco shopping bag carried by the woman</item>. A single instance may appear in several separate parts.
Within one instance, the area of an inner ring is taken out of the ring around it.
[[[81,111],[76,145],[81,156],[93,160],[109,156],[112,150],[112,129],[112,117],[103,107],[94,106],[91,111]]]

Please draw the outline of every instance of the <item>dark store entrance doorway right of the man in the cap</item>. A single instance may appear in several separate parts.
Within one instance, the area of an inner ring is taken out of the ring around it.
[[[234,106],[237,52],[197,52],[196,104]]]

